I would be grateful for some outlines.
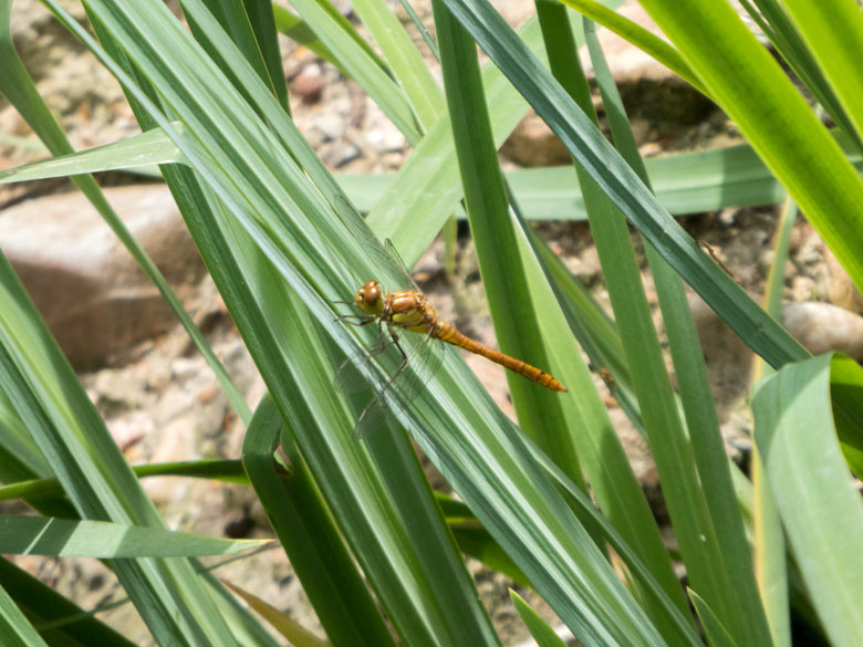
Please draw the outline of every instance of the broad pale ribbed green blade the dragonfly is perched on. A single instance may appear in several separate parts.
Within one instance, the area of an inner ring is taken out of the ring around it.
[[[94,0],[93,4],[107,9],[105,2]],[[384,265],[370,261],[367,250],[346,237],[344,225],[339,225],[332,208],[324,208],[320,196],[309,192],[308,179],[294,174],[291,158],[280,155],[273,144],[273,136],[278,140],[279,131],[264,131],[253,119],[247,123],[251,118],[248,109],[236,103],[237,93],[225,87],[217,69],[204,65],[196,70],[206,79],[206,84],[188,74],[187,64],[194,62],[197,67],[202,63],[199,52],[187,46],[187,34],[168,21],[160,6],[135,2],[124,4],[124,9],[131,12],[132,20],[112,21],[112,29],[131,36],[134,34],[128,45],[136,51],[136,63],[153,79],[159,80],[160,91],[170,96],[171,105],[181,114],[195,143],[184,140],[155,106],[148,105],[148,109],[158,115],[159,124],[184,148],[196,170],[212,182],[212,189],[230,207],[231,217],[253,237],[256,246],[300,293],[304,306],[312,311],[322,330],[331,334],[343,351],[356,351],[357,338],[339,326],[332,326],[332,306],[323,301],[322,294],[330,298],[344,294],[355,288],[352,284],[357,280],[355,274],[384,274]],[[75,28],[71,21],[70,27]],[[89,46],[97,50],[87,41],[85,32],[76,33]],[[152,54],[136,50],[154,38],[158,38],[158,51],[166,53],[158,60],[169,64],[150,64]],[[168,82],[168,74],[179,74],[177,82]],[[257,80],[252,77],[248,81],[253,85]],[[124,79],[124,82],[134,85],[131,80]],[[189,90],[191,92],[187,92]],[[201,98],[210,96],[221,102],[217,105],[229,105],[230,115],[200,103]],[[205,115],[214,121],[202,122]],[[268,114],[268,118],[281,126],[278,114]],[[212,131],[208,129],[210,127]],[[242,142],[236,136],[237,128],[246,129]],[[212,133],[220,134],[218,142]],[[269,138],[264,138],[264,134]],[[218,163],[206,152],[215,155]],[[262,154],[266,156],[260,157]],[[235,168],[242,168],[242,173],[226,173],[226,169],[230,171]],[[275,171],[281,174],[278,181],[269,182],[268,173]],[[238,185],[242,191],[237,190]],[[305,210],[289,199],[291,195],[303,202]],[[283,220],[268,221],[264,226],[260,219],[264,212],[279,213]],[[311,220],[312,215],[314,220]],[[242,284],[237,286],[238,290],[242,288]],[[456,362],[453,354],[447,357],[445,369],[437,373],[436,379],[428,384],[420,397],[398,411],[399,420],[409,426],[426,453],[477,511],[531,582],[555,601],[562,617],[574,626],[585,628],[585,632],[607,625],[614,627],[610,630],[615,635],[626,632],[620,619],[630,617],[637,629],[636,637],[628,644],[654,643],[658,637],[643,624],[641,616],[632,615],[633,603],[625,596],[618,596],[620,583],[595,547],[591,549],[592,544],[579,530],[580,526],[572,521],[559,493],[532,460],[519,453],[523,450],[519,449],[514,428],[492,407],[464,362]],[[256,356],[256,359],[259,365],[267,362],[262,356]],[[365,375],[372,378],[374,371],[370,368]],[[282,371],[270,374],[268,378],[273,397],[281,405],[295,397],[290,385],[282,384],[285,377]],[[273,386],[280,387],[278,396]],[[326,390],[329,387],[323,388]],[[513,532],[513,524],[518,532]],[[597,567],[597,563],[603,567]],[[582,584],[575,573],[591,573],[591,584]],[[617,597],[607,597],[606,593],[612,591]],[[584,605],[576,608],[573,605],[575,599],[584,599]]]

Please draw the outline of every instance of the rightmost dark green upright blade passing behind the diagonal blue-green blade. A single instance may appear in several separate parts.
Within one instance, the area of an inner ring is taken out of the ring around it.
[[[585,25],[585,34],[615,145],[640,177],[648,182],[635,138],[625,119],[623,103],[591,25]],[[701,598],[711,602],[713,611],[721,622],[735,628],[735,635],[765,641],[768,639],[767,622],[759,604],[749,546],[734,499],[729,461],[725,456],[707,369],[683,281],[652,244],[645,244],[645,253],[653,271],[688,428],[688,439],[683,434],[666,436],[654,449],[655,455],[664,455],[674,443],[679,445],[675,450],[677,456],[670,461],[670,473],[668,462],[657,456],[659,477],[666,487],[670,484],[672,492],[687,487],[694,492],[700,491],[704,498],[704,518],[698,519],[697,514],[686,516],[688,511],[695,512],[692,504],[685,503],[684,514],[680,514],[679,501],[674,501],[675,495],[669,497],[672,518],[689,572],[689,585],[699,592]],[[651,429],[647,431],[649,434]],[[688,455],[686,447],[689,443],[692,463],[684,467],[683,457]],[[665,469],[662,469],[663,465]],[[693,476],[697,474],[697,478],[678,480],[678,474],[685,474],[688,469],[694,469]],[[694,550],[699,543],[713,550]]]

